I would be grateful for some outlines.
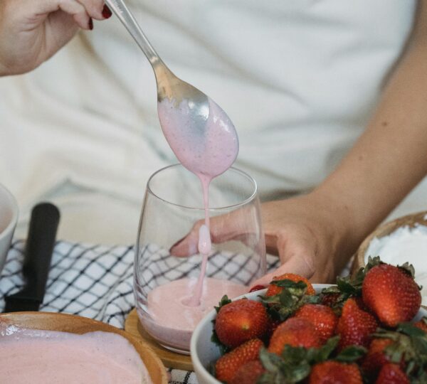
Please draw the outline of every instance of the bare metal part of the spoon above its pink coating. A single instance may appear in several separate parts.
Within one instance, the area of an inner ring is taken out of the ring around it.
[[[209,117],[209,97],[188,82],[177,78],[167,68],[167,65],[159,58],[159,55],[157,55],[157,52],[145,37],[124,1],[105,0],[105,3],[119,18],[127,31],[135,39],[139,48],[142,49],[149,63],[151,63],[157,81],[157,101],[162,102],[162,100],[167,98],[170,102],[174,102],[175,107],[178,107],[185,100],[191,113],[191,121],[201,124],[201,128],[203,128],[204,122]]]

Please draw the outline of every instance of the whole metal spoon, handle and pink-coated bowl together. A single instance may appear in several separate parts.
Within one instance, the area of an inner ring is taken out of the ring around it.
[[[238,154],[238,137],[231,119],[204,92],[169,70],[125,1],[106,0],[105,3],[152,65],[157,82],[160,125],[176,157],[190,171],[196,169],[196,173],[204,173],[208,178],[222,174]],[[187,149],[194,153],[190,154]]]

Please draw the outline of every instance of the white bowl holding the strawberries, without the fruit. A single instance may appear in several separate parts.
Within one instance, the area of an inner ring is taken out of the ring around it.
[[[331,284],[313,284],[313,288],[316,293],[319,293],[323,288],[330,286]],[[260,291],[243,294],[233,300],[247,297],[248,299],[259,301],[258,296],[265,294],[265,291],[266,289],[262,289]],[[421,308],[413,321],[418,321],[423,316],[427,316],[427,311]],[[209,366],[209,363],[216,361],[216,359],[221,356],[218,346],[211,341],[211,335],[214,329],[212,320],[214,320],[215,317],[216,311],[214,309],[200,321],[193,332],[193,336],[191,336],[191,361],[193,362],[194,372],[196,372],[199,384],[221,384],[221,381],[216,380],[216,378],[214,378],[214,376],[212,376],[206,369],[206,367]]]

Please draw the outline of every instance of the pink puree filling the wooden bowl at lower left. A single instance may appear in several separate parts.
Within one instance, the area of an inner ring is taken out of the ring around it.
[[[77,335],[8,326],[0,332],[0,361],[1,383],[152,383],[135,348],[108,332]]]

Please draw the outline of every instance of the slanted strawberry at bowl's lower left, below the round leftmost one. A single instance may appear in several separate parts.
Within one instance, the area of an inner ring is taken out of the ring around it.
[[[243,364],[258,359],[260,348],[262,347],[263,342],[258,338],[253,338],[218,358],[215,364],[216,378],[230,383]]]

